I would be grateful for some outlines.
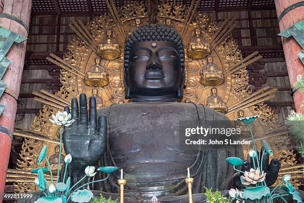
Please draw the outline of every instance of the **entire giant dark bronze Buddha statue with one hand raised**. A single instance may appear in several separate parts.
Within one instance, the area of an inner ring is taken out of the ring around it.
[[[187,167],[194,178],[195,202],[205,200],[201,194],[204,187],[224,190],[228,184],[240,184],[231,179],[233,168],[225,159],[242,158],[241,146],[180,148],[181,120],[228,121],[225,127],[233,125],[212,108],[177,102],[183,97],[185,80],[184,47],[177,31],[164,24],[139,27],[128,37],[124,57],[125,97],[131,102],[97,111],[91,97],[88,113],[84,94],[79,107],[76,98],[72,100],[72,119],[76,121],[64,129],[65,152],[73,156],[72,171],[80,175],[86,166],[97,164],[123,168],[125,193],[137,199],[125,200],[130,203],[151,200],[153,195],[160,202],[186,203]],[[69,107],[65,110],[70,112]],[[234,135],[230,138],[237,139]],[[266,181],[271,185],[278,167],[270,167],[272,173]],[[111,174],[94,189],[112,199],[119,197],[115,196],[119,194],[117,179],[118,174]]]

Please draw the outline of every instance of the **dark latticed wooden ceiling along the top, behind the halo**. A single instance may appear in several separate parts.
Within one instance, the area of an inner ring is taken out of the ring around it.
[[[140,0],[113,0],[116,6],[132,3]],[[167,0],[177,1],[190,5],[191,0]],[[159,0],[161,2],[161,0]],[[237,10],[262,10],[274,9],[274,0],[201,0],[198,7],[200,11],[233,11]],[[107,12],[108,8],[104,0],[33,0],[33,15],[62,15],[94,16]]]

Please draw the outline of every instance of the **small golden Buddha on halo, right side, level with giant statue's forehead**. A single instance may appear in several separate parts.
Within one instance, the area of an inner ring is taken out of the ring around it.
[[[192,32],[187,46],[187,55],[193,59],[203,59],[211,52],[210,44],[206,38],[203,37],[203,31],[197,27]]]

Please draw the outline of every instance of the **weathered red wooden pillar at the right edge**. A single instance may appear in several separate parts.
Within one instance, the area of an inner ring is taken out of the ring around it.
[[[281,13],[286,8],[300,1],[302,0],[275,0],[278,16],[280,16]],[[297,22],[299,22],[304,18],[303,8],[304,6],[294,8],[283,16],[283,18],[279,22],[280,32],[293,26],[294,24],[296,24]],[[297,81],[297,76],[298,75],[304,76],[304,66],[301,60],[297,56],[297,54],[302,50],[302,47],[298,44],[298,42],[293,37],[289,37],[289,38],[282,37],[282,43],[283,43],[284,55],[285,55],[290,84],[292,87],[294,87],[293,85]],[[300,105],[304,103],[304,93],[301,93],[300,91],[296,91],[293,97],[294,97],[296,110],[299,111]],[[304,111],[302,109],[302,113],[303,112]]]

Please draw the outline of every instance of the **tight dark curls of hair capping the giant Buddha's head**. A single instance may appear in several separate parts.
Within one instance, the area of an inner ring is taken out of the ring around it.
[[[179,33],[171,26],[165,24],[148,24],[136,29],[126,40],[125,44],[125,68],[128,68],[129,55],[132,46],[138,42],[168,41],[176,45],[179,52],[181,67],[184,67],[184,47]]]

